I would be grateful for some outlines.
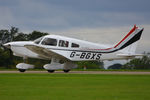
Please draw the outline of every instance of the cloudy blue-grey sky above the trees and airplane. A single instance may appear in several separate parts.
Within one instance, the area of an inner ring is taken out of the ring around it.
[[[137,52],[150,52],[149,5],[150,0],[0,0],[0,29],[115,44],[136,24],[144,28]]]

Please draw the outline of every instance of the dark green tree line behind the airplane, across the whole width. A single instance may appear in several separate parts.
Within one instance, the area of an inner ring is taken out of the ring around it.
[[[48,35],[48,33],[33,31],[29,34],[19,32],[19,28],[11,27],[10,29],[0,30],[0,68],[15,68],[15,65],[23,62],[20,57],[13,56],[10,49],[3,47],[2,44],[11,41],[33,41],[41,36]],[[44,64],[50,63],[47,60],[29,58],[28,63],[34,64],[36,68],[42,68]],[[83,61],[76,62],[79,68],[92,68],[92,69],[104,69],[104,63],[98,61]],[[130,60],[124,65],[114,64],[109,66],[108,69],[150,69],[150,56],[149,53],[145,53],[142,58],[135,58]]]

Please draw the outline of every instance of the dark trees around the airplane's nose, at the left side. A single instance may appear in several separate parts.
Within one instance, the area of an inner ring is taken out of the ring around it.
[[[15,68],[16,64],[23,62],[21,57],[13,56],[13,53],[10,49],[7,49],[3,44],[11,41],[33,41],[41,36],[48,35],[48,33],[33,31],[29,34],[19,32],[19,29],[16,27],[11,27],[8,29],[0,30],[0,67],[3,68]],[[37,68],[42,68],[43,64],[49,63],[46,60],[40,59],[28,59],[28,63],[34,64]]]

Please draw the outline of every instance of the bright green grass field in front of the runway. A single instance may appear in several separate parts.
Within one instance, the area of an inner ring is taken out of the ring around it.
[[[0,100],[150,100],[150,75],[0,74]]]

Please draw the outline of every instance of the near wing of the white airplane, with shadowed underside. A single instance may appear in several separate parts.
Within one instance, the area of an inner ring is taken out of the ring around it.
[[[50,50],[50,49],[47,49],[47,48],[44,48],[44,47],[41,47],[38,45],[25,45],[24,47],[26,47],[27,49],[31,50],[32,52],[38,54],[38,56],[42,59],[50,60],[51,58],[57,58],[57,59],[61,59],[64,61],[69,60],[65,56],[58,54],[54,50]]]

